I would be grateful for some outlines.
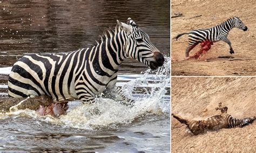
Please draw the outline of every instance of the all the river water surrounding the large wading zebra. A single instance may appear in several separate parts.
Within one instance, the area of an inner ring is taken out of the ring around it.
[[[117,85],[136,100],[132,108],[99,97],[92,105],[69,102],[59,118],[33,110],[0,114],[0,151],[170,151],[169,1],[1,1],[0,14],[2,96],[9,66],[22,55],[91,46],[116,19],[131,17],[166,59],[157,71],[129,59],[120,67]]]

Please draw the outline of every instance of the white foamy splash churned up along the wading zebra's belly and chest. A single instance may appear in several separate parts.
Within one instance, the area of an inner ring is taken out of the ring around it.
[[[95,103],[90,105],[84,105],[80,101],[69,102],[70,108],[67,114],[59,118],[39,116],[34,110],[16,110],[6,115],[28,116],[64,127],[89,130],[116,129],[127,126],[138,119],[170,117],[170,58],[166,57],[165,61],[165,64],[157,71],[147,69],[143,75],[136,75],[136,79],[132,78],[131,81],[122,84],[123,93],[135,100],[132,108],[122,105],[119,101],[100,96],[96,98]],[[130,75],[125,75],[125,77],[129,78]],[[140,92],[138,87],[140,87]]]

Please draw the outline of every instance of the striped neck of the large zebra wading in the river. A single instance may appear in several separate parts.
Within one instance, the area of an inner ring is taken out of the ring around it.
[[[126,33],[116,27],[115,31],[107,31],[101,36],[100,43],[90,48],[93,66],[97,71],[104,71],[109,75],[116,73],[123,60],[127,57],[125,53],[127,36]],[[97,68],[99,67],[99,68]]]

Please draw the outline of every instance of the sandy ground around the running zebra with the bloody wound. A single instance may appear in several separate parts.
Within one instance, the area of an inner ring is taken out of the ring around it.
[[[225,2],[225,3],[224,3]],[[213,44],[210,51],[200,59],[181,61],[185,57],[188,45],[187,35],[178,41],[172,39],[172,75],[256,75],[256,1],[172,1],[171,16],[181,12],[183,17],[172,18],[171,37],[195,29],[206,29],[224,22],[227,18],[237,16],[248,27],[247,31],[232,29],[228,34],[234,54],[223,41]],[[200,17],[196,17],[199,16]],[[194,17],[194,18],[193,18]],[[200,50],[196,46],[190,55]],[[232,56],[234,60],[219,56]],[[208,61],[205,61],[208,59]]]

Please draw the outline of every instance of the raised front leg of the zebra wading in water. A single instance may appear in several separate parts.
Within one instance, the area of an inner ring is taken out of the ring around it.
[[[106,96],[106,98],[121,101],[123,105],[130,107],[133,107],[134,105],[134,100],[127,98],[127,96],[123,94],[122,88],[120,87],[114,86],[111,89],[106,89],[106,91],[104,91],[104,95]]]

